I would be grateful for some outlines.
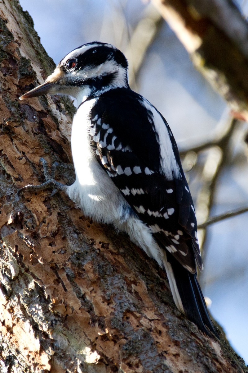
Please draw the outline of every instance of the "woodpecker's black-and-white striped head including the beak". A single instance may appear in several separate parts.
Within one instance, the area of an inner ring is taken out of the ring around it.
[[[20,100],[44,94],[73,96],[78,104],[113,88],[128,88],[128,62],[111,44],[94,41],[68,53],[44,84],[23,94]]]

